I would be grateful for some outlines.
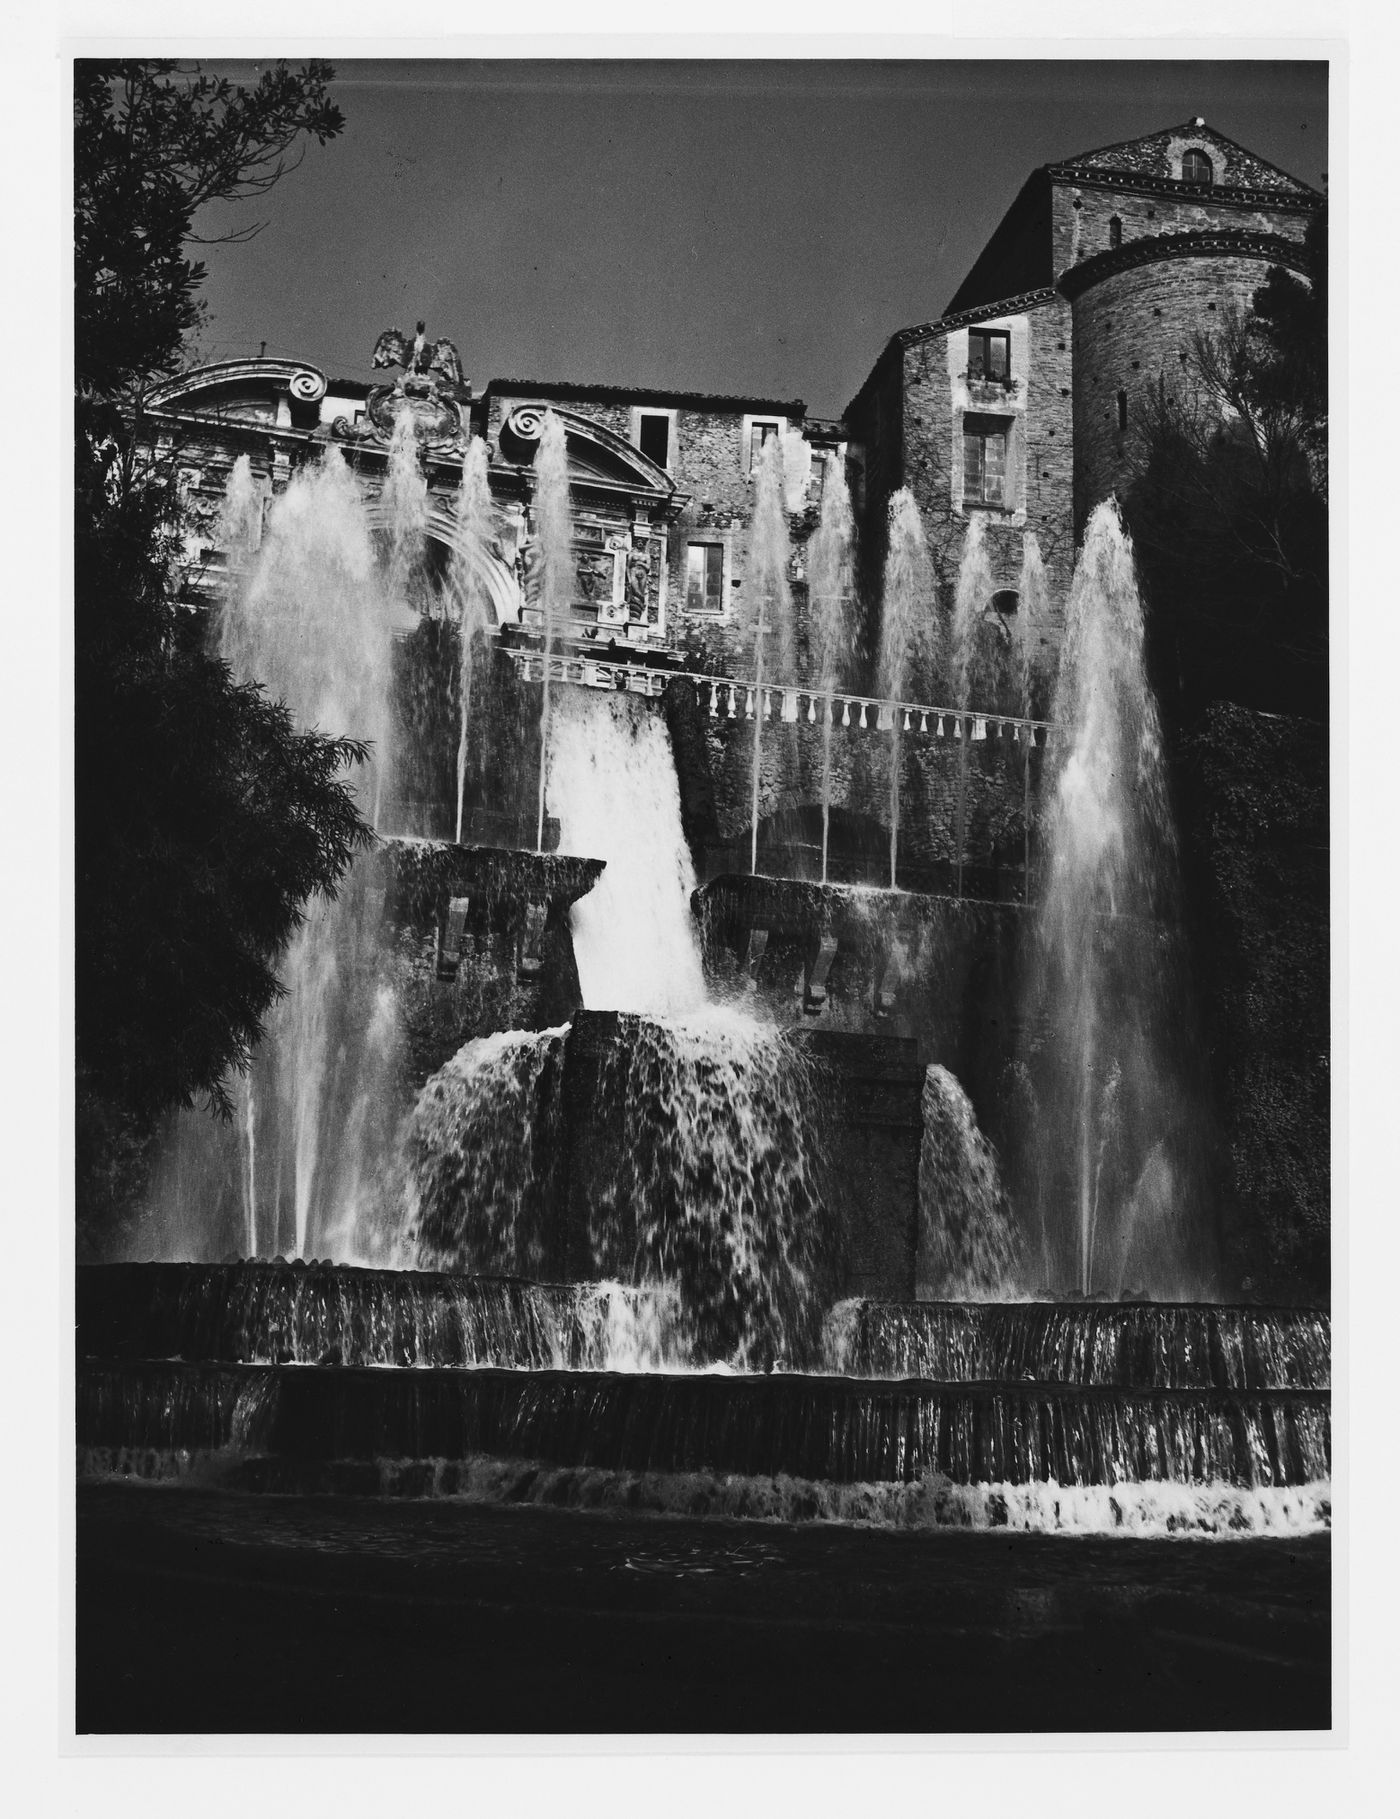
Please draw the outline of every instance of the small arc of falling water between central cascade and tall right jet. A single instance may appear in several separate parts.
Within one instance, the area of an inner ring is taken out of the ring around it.
[[[924,1075],[918,1155],[920,1301],[1005,1301],[1016,1293],[1018,1242],[996,1151],[947,1068]]]

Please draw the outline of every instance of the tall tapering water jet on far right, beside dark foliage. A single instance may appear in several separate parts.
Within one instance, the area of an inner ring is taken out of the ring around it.
[[[1042,1206],[1067,1197],[1073,1221],[1049,1206],[1047,1262],[1084,1295],[1125,1275],[1180,1291],[1184,1182],[1167,1142],[1180,1110],[1165,1053],[1180,1008],[1167,937],[1149,920],[1173,913],[1175,835],[1133,549],[1111,502],[1089,518],[1075,571],[1053,720],[1038,917],[1053,1066],[1040,1097],[1042,1130],[1067,1142],[1045,1146]]]

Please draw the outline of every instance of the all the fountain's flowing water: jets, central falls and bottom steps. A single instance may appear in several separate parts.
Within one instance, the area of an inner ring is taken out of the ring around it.
[[[796,504],[796,493],[784,502],[773,446],[756,473],[745,575],[755,868],[765,688],[795,675],[785,506]],[[475,642],[489,624],[478,442],[464,460],[458,517],[447,593],[460,842]],[[304,726],[371,740],[358,788],[378,806],[395,760],[391,640],[413,624],[429,580],[425,487],[404,424],[380,520],[376,562],[371,518],[329,451],[276,500],[265,535],[264,498],[238,462],[222,524],[222,649],[235,673],[282,695]],[[1015,1064],[1035,1108],[1029,1153],[1015,1148],[1015,1111],[996,1124],[1018,1206],[1024,1181],[1038,1188],[1025,1217],[1042,1219],[1044,1275],[1022,1251],[998,1155],[967,1095],[935,1066],[922,1100],[920,1301],[829,1313],[844,1224],[825,1135],[844,1100],[827,1097],[831,1080],[804,1040],[707,1000],[676,766],[655,704],[587,688],[551,697],[571,569],[553,417],[533,520],[531,604],[545,644],[536,842],[547,808],[564,853],[604,860],[569,911],[584,1011],[571,1026],[467,1042],[398,1133],[398,1006],[378,948],[378,886],[356,866],[335,904],[313,906],[285,960],[293,991],[253,1071],[233,1082],[233,1124],[207,1148],[198,1184],[175,1177],[184,1208],[222,1181],[225,1230],[249,1251],[296,1251],[298,1264],[80,1281],[84,1473],[207,1470],[211,1482],[253,1488],[373,1482],[411,1495],[896,1524],[1222,1537],[1325,1528],[1325,1315],[1136,1299],[1202,1295],[1211,1282],[1189,1262],[1195,1237],[1185,1242],[1195,1177],[1184,1131],[1198,1121],[1164,1040],[1182,1022],[1164,930],[1173,839],[1142,609],[1113,508],[1089,524],[1053,704],[1064,731],[1047,753],[1047,893],[1031,1033]],[[809,551],[811,655],[827,689],[849,662],[851,573],[851,504],[833,473]],[[960,708],[984,706],[978,664],[1002,662],[989,591],[975,520],[955,611]],[[1047,613],[1027,535],[1022,711],[1036,698]],[[878,653],[887,700],[915,688],[938,698],[936,628],[920,517],[902,493],[891,502]],[[987,675],[985,704],[1005,711],[1009,671]],[[829,715],[824,735],[825,879]],[[898,722],[891,755],[893,886]],[[458,868],[484,857],[435,851]],[[538,904],[555,862],[515,860],[515,884]],[[873,900],[891,911],[911,902]],[[169,1248],[209,1255],[207,1237],[187,1228]],[[395,1268],[300,1266],[307,1253]],[[540,1281],[549,1275],[560,1281]],[[604,1279],[573,1281],[587,1275]],[[1129,1301],[1015,1301],[1031,1286]],[[296,1368],[305,1364],[327,1368]]]

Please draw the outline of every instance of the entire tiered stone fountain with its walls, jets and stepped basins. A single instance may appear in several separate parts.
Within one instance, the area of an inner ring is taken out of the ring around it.
[[[1007,629],[982,520],[940,591],[898,491],[862,642],[845,477],[796,589],[805,495],[764,438],[742,580],[727,555],[691,577],[742,586],[731,644],[680,669],[664,537],[589,504],[565,417],[516,411],[500,457],[464,438],[433,491],[405,409],[376,498],[331,446],[265,531],[233,469],[222,649],[371,746],[378,842],[293,940],[235,1122],[182,1119],[127,1259],[80,1271],[84,1473],[1325,1528],[1327,1317],[1225,1302],[1202,1215],[1113,509],[1035,720],[1035,537]],[[747,824],[720,833],[731,748]],[[784,815],[813,864],[764,877]],[[991,824],[1009,900],[969,888]]]

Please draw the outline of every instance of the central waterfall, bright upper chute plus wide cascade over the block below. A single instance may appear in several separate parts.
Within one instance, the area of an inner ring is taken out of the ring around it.
[[[585,1019],[469,1042],[427,1082],[407,1251],[538,1273],[547,1208],[567,1199],[595,1273],[676,1297],[687,1359],[800,1355],[831,1253],[818,1071],[773,1026],[707,1004],[665,722],[631,695],[565,691],[549,808],[562,851],[605,860],[571,911],[575,957],[585,1010],[624,1015],[582,1046]],[[564,1135],[565,1100],[585,1141]]]

